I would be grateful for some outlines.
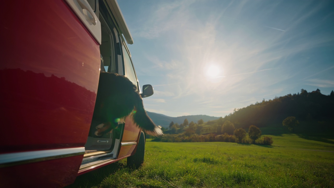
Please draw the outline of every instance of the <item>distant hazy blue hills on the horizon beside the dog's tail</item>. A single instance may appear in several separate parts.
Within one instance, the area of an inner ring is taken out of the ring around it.
[[[169,124],[173,121],[174,123],[181,124],[183,123],[184,119],[187,119],[189,122],[197,122],[200,119],[203,121],[211,121],[218,119],[219,117],[213,117],[208,115],[187,115],[187,116],[179,116],[179,117],[170,117],[163,114],[158,114],[154,112],[148,112],[148,116],[153,120],[153,122],[157,125],[161,125],[162,127],[167,128]]]

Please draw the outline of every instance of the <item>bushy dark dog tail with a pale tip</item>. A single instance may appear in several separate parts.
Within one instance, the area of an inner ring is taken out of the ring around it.
[[[140,128],[145,130],[145,132],[149,135],[152,136],[163,135],[162,130],[157,125],[155,125],[152,119],[147,115],[144,109],[142,97],[139,95],[139,93],[137,93],[137,95],[138,95],[138,100],[137,100],[138,103],[135,109],[136,113],[134,113],[135,122]]]

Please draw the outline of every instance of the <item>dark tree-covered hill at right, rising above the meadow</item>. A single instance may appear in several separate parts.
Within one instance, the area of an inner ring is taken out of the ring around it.
[[[327,96],[321,94],[320,90],[308,93],[302,89],[300,94],[288,94],[237,109],[223,120],[233,122],[235,127],[247,127],[252,124],[266,126],[269,123],[282,122],[288,116],[295,116],[301,121],[333,120],[334,92]]]

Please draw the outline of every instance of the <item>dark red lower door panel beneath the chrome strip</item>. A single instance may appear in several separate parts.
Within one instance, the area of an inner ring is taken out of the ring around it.
[[[64,187],[74,182],[81,160],[74,156],[0,168],[0,187]]]

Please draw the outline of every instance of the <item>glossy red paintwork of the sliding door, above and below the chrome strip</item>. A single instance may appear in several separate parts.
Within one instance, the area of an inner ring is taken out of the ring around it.
[[[61,0],[4,1],[0,16],[0,155],[84,147],[98,88],[99,45]],[[1,184],[25,176],[35,187],[73,182],[83,155],[58,157],[0,168],[1,178],[7,177]]]

